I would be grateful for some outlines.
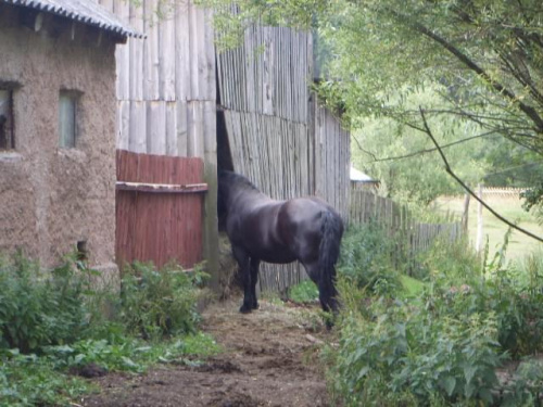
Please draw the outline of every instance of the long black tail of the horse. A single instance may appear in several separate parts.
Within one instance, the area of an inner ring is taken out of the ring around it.
[[[325,291],[325,308],[337,309],[336,301],[336,262],[340,254],[341,237],[343,236],[343,221],[331,211],[323,212],[321,239],[318,254],[320,270],[320,284]]]

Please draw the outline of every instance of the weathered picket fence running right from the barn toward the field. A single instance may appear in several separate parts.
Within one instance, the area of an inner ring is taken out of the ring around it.
[[[405,206],[370,191],[351,191],[351,224],[367,224],[377,221],[391,234],[404,237],[411,255],[429,249],[439,239],[454,242],[463,233],[462,222],[422,224],[417,222]]]

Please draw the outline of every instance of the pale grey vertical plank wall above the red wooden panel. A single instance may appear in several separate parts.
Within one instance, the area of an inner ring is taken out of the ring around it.
[[[215,150],[215,47],[210,13],[191,0],[141,0],[137,5],[126,0],[99,2],[147,35],[116,49],[117,148],[200,157]]]

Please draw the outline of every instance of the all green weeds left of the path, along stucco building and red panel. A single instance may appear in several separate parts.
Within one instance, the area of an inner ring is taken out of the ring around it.
[[[219,352],[197,331],[202,271],[135,264],[121,295],[97,290],[98,277],[71,257],[49,271],[22,254],[2,258],[0,406],[67,405],[89,391],[70,376],[86,367],[141,372]]]

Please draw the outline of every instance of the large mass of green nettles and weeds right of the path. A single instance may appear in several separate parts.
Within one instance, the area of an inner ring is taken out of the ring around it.
[[[507,237],[482,267],[465,246],[438,242],[419,258],[428,282],[405,301],[370,295],[343,274],[339,345],[326,351],[338,402],[533,405],[543,387],[539,361],[521,364],[507,381],[497,371],[509,357],[543,351],[543,256],[514,268],[503,260],[506,246]]]

